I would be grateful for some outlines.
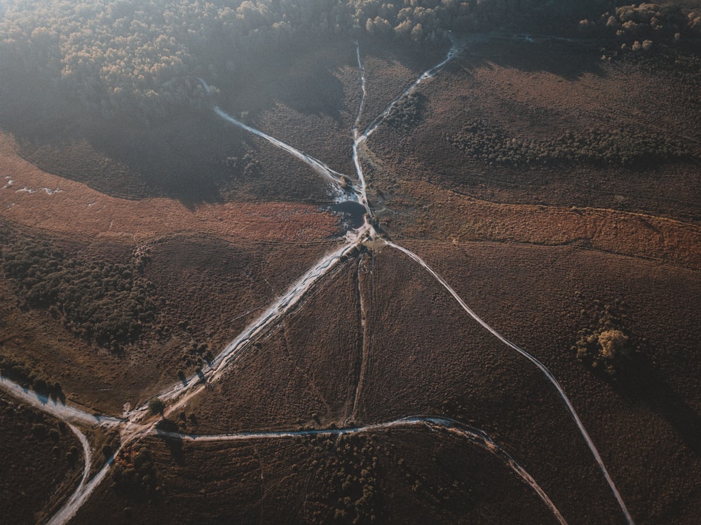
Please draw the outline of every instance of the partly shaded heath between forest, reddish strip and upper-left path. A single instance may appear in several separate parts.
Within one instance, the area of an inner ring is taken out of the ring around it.
[[[327,182],[311,168],[207,108],[149,125],[90,118],[86,130],[62,121],[42,125],[48,130],[13,128],[20,155],[110,196],[172,198],[188,207],[230,200],[329,201]],[[257,163],[254,170],[245,169],[245,158]]]

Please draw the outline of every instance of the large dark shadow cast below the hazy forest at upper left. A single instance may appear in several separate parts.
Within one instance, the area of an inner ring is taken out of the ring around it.
[[[5,111],[1,125],[15,136],[20,156],[118,198],[174,198],[189,209],[222,200],[219,190],[235,175],[226,158],[242,150],[238,129],[201,109],[152,121],[60,108],[37,114],[27,104],[15,110],[21,115]]]

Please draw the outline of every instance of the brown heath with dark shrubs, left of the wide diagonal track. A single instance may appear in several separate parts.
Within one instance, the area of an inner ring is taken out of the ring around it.
[[[1,355],[60,381],[70,400],[112,414],[202,367],[335,245],[191,235],[135,247],[10,232]],[[135,325],[129,311],[107,315],[126,300],[142,312]],[[103,325],[118,335],[114,324],[124,328],[121,339],[101,339]]]

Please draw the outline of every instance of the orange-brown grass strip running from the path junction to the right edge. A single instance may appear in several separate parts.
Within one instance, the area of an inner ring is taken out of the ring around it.
[[[574,244],[701,268],[696,224],[597,208],[491,203],[423,182],[407,182],[404,190],[406,196],[385,201],[381,214],[397,238]]]

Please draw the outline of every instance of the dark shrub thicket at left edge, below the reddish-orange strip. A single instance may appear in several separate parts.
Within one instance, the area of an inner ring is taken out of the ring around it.
[[[69,257],[35,239],[4,246],[5,274],[32,308],[47,308],[76,336],[111,350],[137,339],[154,321],[153,285],[133,264]]]

